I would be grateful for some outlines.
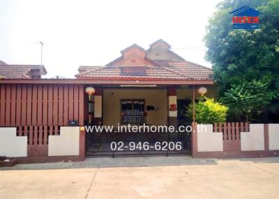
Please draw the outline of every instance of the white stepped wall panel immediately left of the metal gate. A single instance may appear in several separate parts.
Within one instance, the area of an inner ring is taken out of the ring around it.
[[[48,155],[79,155],[80,127],[61,127],[60,136],[49,136]]]

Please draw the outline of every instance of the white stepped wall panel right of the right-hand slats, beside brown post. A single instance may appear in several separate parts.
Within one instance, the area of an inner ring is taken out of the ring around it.
[[[264,150],[264,125],[250,125],[250,132],[241,132],[241,150]]]

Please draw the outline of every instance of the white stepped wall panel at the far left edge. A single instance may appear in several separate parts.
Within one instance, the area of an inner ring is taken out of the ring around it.
[[[0,128],[0,156],[27,157],[27,136],[17,136],[17,128]]]

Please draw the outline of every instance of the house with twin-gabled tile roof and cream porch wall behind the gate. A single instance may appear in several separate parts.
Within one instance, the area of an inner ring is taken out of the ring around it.
[[[164,40],[153,42],[147,50],[135,44],[131,45],[121,51],[119,58],[104,67],[82,66],[79,72],[75,76],[77,79],[102,81],[94,87],[101,93],[99,99],[103,102],[103,106],[95,106],[96,111],[100,112],[100,118],[95,121],[102,121],[103,125],[116,126],[125,123],[123,118],[127,117],[119,108],[119,103],[133,104],[139,99],[144,101],[145,108],[156,106],[157,110],[148,111],[146,118],[142,118],[142,123],[167,125],[174,122],[176,125],[177,113],[168,113],[167,102],[177,105],[177,101],[188,100],[190,103],[195,85],[206,85],[209,95],[214,93],[212,70],[184,60],[175,54]],[[102,110],[99,111],[98,108]],[[115,115],[110,114],[111,112]],[[124,116],[121,116],[121,113]],[[128,113],[132,114],[129,121],[138,124],[135,120],[137,116],[130,110]],[[181,115],[184,116],[185,113]]]

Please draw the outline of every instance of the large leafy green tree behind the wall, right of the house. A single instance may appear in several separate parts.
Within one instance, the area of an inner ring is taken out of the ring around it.
[[[260,29],[232,29],[232,16],[228,13],[241,6],[262,12]],[[212,63],[213,77],[218,84],[218,97],[229,104],[230,113],[245,114],[249,118],[250,111],[279,109],[279,0],[219,3],[209,19],[204,41],[206,59]],[[242,95],[246,100],[241,101]],[[255,101],[262,106],[256,106]],[[248,110],[244,104],[253,105]]]

